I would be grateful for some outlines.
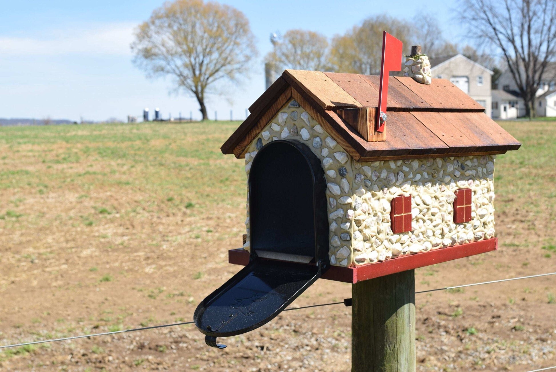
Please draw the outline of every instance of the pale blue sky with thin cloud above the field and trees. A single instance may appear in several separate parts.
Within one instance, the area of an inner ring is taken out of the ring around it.
[[[366,17],[388,13],[412,19],[433,12],[444,37],[461,42],[463,29],[453,20],[451,0],[400,1],[222,1],[244,12],[257,40],[259,57],[250,80],[229,96],[210,96],[209,117],[244,119],[245,109],[264,90],[262,57],[270,51],[269,34],[291,28],[319,31],[328,37]],[[49,0],[6,1],[0,22],[0,117],[106,120],[141,116],[160,107],[167,118],[190,111],[199,118],[196,101],[169,93],[170,79],[149,80],[132,65],[133,29],[162,1]],[[230,91],[230,89],[229,89]]]

